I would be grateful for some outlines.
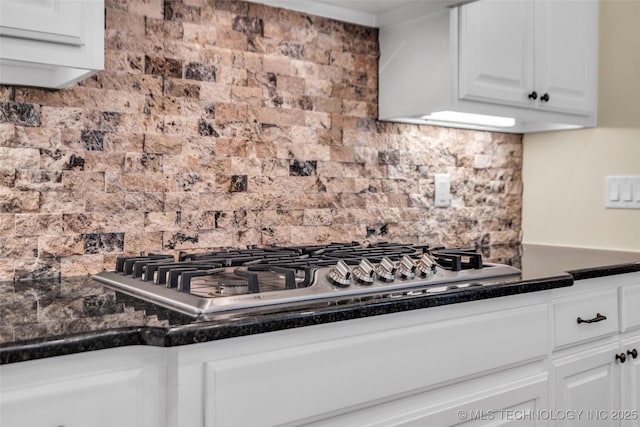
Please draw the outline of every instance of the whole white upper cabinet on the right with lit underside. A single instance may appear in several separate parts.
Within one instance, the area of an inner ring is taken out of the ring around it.
[[[379,118],[512,133],[594,127],[597,71],[598,0],[479,0],[380,28]]]

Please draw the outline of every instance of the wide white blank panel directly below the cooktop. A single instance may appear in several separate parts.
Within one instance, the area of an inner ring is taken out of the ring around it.
[[[211,361],[205,426],[294,423],[541,359],[547,319],[535,305]]]

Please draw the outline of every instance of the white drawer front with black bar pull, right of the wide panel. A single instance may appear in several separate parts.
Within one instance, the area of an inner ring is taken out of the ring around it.
[[[614,334],[618,331],[617,289],[558,300],[553,313],[556,348]]]

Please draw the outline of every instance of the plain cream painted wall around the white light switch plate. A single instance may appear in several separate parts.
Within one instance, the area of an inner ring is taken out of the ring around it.
[[[595,129],[529,134],[523,242],[640,251],[640,210],[605,209],[605,175],[640,175],[640,1],[601,0]]]

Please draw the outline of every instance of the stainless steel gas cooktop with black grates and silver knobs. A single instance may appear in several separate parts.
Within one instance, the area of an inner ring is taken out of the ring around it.
[[[377,243],[122,257],[93,278],[197,318],[377,296],[456,292],[513,281],[520,270],[474,249]]]

